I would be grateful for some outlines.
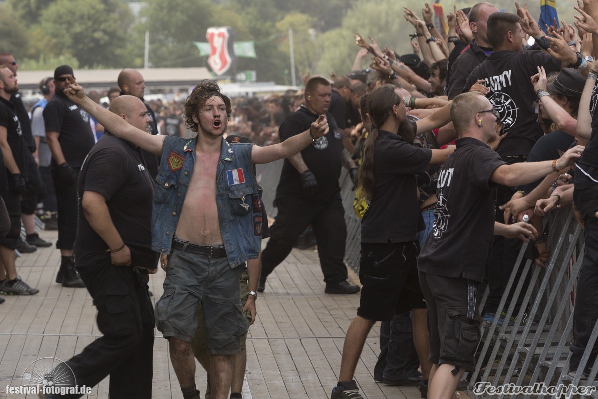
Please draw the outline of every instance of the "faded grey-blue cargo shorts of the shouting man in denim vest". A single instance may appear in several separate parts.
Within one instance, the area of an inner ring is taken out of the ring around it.
[[[172,251],[164,294],[155,304],[158,330],[165,338],[191,342],[197,330],[197,306],[202,306],[208,353],[239,352],[239,339],[247,332],[240,300],[241,269],[231,269],[226,257]]]

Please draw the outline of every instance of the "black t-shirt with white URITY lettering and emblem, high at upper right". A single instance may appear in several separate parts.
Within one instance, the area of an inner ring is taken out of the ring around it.
[[[543,134],[536,123],[536,93],[530,82],[539,65],[550,74],[560,70],[561,62],[542,51],[496,51],[471,72],[465,83],[464,90],[468,91],[478,79],[486,80],[490,89],[486,97],[501,114],[503,132],[508,133],[496,150],[501,156],[529,154]]]

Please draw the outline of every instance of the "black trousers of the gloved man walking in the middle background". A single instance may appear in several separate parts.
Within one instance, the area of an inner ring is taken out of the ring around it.
[[[278,214],[270,227],[270,240],[262,252],[262,277],[268,276],[285,260],[297,238],[311,225],[318,243],[324,281],[327,284],[346,281],[347,226],[341,200],[324,202],[284,197],[276,199],[276,206]]]

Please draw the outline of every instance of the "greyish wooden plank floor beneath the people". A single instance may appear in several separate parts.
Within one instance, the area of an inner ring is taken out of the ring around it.
[[[41,232],[56,242],[56,232]],[[59,251],[40,248],[17,260],[17,271],[35,296],[7,296],[0,305],[0,399],[31,398],[8,395],[6,386],[20,385],[24,371],[42,357],[68,360],[99,336],[95,308],[87,290],[54,283]],[[350,278],[357,282],[355,274]],[[150,278],[154,302],[162,294],[164,273]],[[258,316],[249,330],[246,399],[329,398],[340,370],[344,335],[356,314],[359,295],[327,295],[318,253],[294,249],[269,276],[266,292],[257,301]],[[419,398],[416,387],[385,386],[373,379],[379,352],[379,324],[367,339],[355,378],[368,399]],[[206,374],[197,367],[197,386],[205,391]],[[154,398],[182,398],[167,349],[156,331]],[[108,397],[108,379],[87,398]]]

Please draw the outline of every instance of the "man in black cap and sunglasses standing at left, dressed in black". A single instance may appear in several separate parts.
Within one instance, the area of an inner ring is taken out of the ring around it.
[[[73,245],[77,233],[77,178],[83,160],[94,144],[89,114],[69,100],[64,90],[69,77],[75,78],[68,65],[54,70],[56,94],[44,108],[50,166],[58,204],[58,242],[62,260],[56,282],[65,287],[85,287],[75,271]]]

